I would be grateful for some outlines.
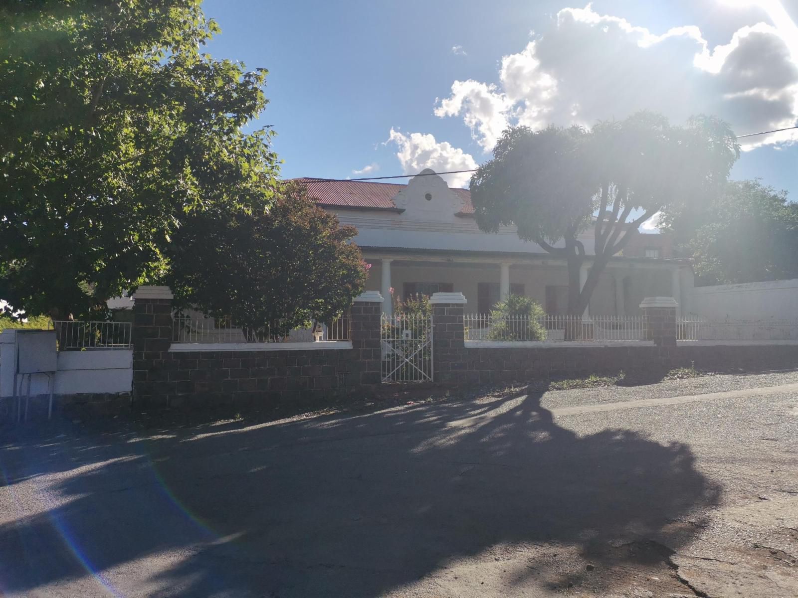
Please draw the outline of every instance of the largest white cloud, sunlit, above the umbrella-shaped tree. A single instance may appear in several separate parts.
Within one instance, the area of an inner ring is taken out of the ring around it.
[[[435,114],[462,116],[486,149],[507,124],[591,125],[641,109],[674,122],[714,114],[740,135],[791,126],[798,120],[798,28],[777,0],[768,2],[773,25],[741,27],[715,48],[697,26],[653,33],[590,5],[560,10],[551,30],[502,57],[499,85],[455,81]],[[788,140],[798,141],[798,133],[741,142],[754,148]]]

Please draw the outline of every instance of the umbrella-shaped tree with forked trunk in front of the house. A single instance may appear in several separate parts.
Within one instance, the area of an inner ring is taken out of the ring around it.
[[[587,308],[612,256],[658,211],[712,201],[739,155],[728,125],[694,117],[683,127],[639,112],[592,129],[509,128],[471,179],[480,228],[518,235],[563,258],[568,313]],[[588,228],[591,255],[579,238]],[[580,288],[579,270],[591,267]]]

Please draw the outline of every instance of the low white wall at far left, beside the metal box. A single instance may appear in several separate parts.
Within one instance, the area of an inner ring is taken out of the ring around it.
[[[0,397],[14,395],[14,384],[22,384],[22,394],[29,394],[28,375],[16,375],[17,352],[14,330],[0,333]],[[55,332],[53,331],[53,344]],[[55,372],[56,395],[118,393],[132,390],[132,349],[91,349],[58,352]],[[31,374],[30,395],[49,393],[52,374]]]

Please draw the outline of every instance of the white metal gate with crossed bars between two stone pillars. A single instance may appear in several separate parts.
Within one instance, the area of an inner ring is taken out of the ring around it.
[[[423,313],[382,314],[382,381],[433,380],[433,317]]]

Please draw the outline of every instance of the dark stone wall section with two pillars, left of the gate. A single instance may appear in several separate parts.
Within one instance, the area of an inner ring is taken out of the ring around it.
[[[352,348],[196,352],[169,350],[168,289],[151,287],[134,299],[133,389],[139,407],[247,409],[380,384],[381,297],[361,296],[352,305]]]

